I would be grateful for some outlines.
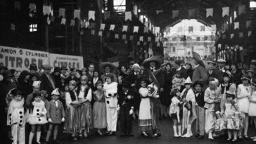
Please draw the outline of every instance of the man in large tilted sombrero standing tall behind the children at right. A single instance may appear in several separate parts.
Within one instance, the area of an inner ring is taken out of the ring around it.
[[[196,81],[203,81],[203,91],[206,89],[207,86],[207,79],[208,75],[205,70],[205,65],[203,63],[203,60],[201,59],[200,55],[198,53],[193,52],[193,61],[195,63],[195,70],[193,72],[192,81],[195,83]]]

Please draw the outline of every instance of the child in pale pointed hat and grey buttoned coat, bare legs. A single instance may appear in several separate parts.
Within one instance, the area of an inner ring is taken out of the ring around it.
[[[47,117],[49,121],[49,129],[46,136],[46,143],[49,143],[49,138],[51,136],[51,131],[53,132],[53,142],[59,143],[57,140],[58,136],[58,127],[61,122],[65,121],[65,111],[63,107],[63,103],[59,100],[60,93],[58,89],[55,89],[51,92],[51,101],[49,102],[49,108],[47,108]]]

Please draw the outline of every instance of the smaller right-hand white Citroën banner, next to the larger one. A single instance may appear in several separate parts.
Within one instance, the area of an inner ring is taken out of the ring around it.
[[[75,55],[60,55],[55,53],[49,53],[49,65],[52,67],[65,66],[68,69],[77,68],[79,70],[84,67],[84,58],[82,56]]]

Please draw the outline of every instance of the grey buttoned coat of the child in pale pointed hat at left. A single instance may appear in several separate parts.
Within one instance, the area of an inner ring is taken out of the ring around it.
[[[61,119],[65,117],[63,103],[58,101],[58,107],[56,107],[55,102],[51,100],[47,109],[47,118],[51,118],[53,124],[61,124]]]

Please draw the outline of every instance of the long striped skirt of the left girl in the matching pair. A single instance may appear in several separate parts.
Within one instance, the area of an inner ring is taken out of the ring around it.
[[[79,130],[79,116],[77,107],[67,107],[64,133],[77,133]]]

